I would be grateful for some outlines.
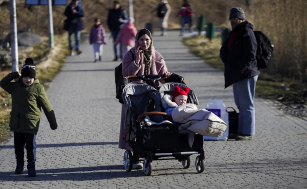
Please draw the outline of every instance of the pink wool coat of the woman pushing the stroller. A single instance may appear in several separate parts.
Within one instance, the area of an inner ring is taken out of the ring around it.
[[[130,49],[134,52],[135,47]],[[150,74],[165,74],[167,72],[167,68],[165,65],[165,61],[158,51],[153,48],[153,57],[152,57],[152,65],[150,68]],[[141,56],[140,65],[137,65],[133,60],[132,53],[127,52],[123,57],[122,61],[122,75],[124,77],[130,75],[144,75],[145,63],[144,58]],[[126,136],[127,131],[124,129],[124,123],[126,119],[126,108],[125,105],[122,104],[122,116],[120,122],[120,131],[119,131],[119,148],[125,150],[132,150],[128,143],[125,142],[124,137]],[[127,135],[128,136],[128,135]],[[131,139],[134,136],[131,136]]]

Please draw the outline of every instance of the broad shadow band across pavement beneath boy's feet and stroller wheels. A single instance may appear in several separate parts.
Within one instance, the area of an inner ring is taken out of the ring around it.
[[[279,160],[279,159],[262,159],[260,162],[238,162],[238,163],[205,163],[204,175],[221,174],[221,173],[256,173],[256,174],[276,174],[307,179],[300,175],[293,175],[291,171],[304,171],[307,165],[306,159]],[[153,169],[152,176],[163,175],[192,175],[197,174],[194,163],[191,163],[186,170],[178,165],[175,168]],[[191,172],[193,170],[193,172]],[[163,171],[163,173],[159,173]],[[165,172],[166,171],[166,172]],[[123,165],[103,165],[96,167],[72,167],[72,168],[55,168],[55,169],[37,169],[37,176],[29,178],[24,171],[23,175],[15,175],[14,171],[0,172],[0,181],[86,181],[86,180],[103,180],[114,178],[128,178],[145,176],[142,170],[126,172]]]

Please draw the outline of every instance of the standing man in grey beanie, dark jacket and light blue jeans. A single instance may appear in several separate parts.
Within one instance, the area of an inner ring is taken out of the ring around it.
[[[257,41],[254,26],[246,21],[243,9],[233,7],[229,21],[232,31],[220,49],[225,65],[225,88],[233,85],[235,104],[239,109],[236,140],[251,140],[255,135],[255,86],[260,74],[257,68]]]

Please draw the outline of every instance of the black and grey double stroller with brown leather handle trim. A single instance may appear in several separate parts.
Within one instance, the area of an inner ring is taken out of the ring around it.
[[[152,173],[153,160],[177,159],[182,162],[185,169],[189,168],[192,154],[196,157],[196,171],[204,171],[203,136],[193,134],[192,144],[188,143],[188,131],[179,131],[178,124],[172,124],[161,104],[163,94],[171,94],[175,86],[186,87],[182,83],[165,83],[157,87],[157,81],[164,75],[128,76],[124,77],[122,98],[126,106],[127,131],[125,140],[133,149],[124,153],[124,167],[126,171],[132,170],[133,163],[143,160],[143,171],[146,175]],[[141,79],[144,82],[130,82],[129,79]],[[188,93],[188,103],[198,104],[193,90]],[[146,124],[145,118],[150,118],[153,123]],[[190,133],[191,134],[191,133]],[[167,158],[172,157],[172,158]]]

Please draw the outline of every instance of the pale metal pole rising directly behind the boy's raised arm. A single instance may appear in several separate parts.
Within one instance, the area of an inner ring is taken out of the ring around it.
[[[18,41],[17,41],[17,19],[16,1],[10,0],[10,22],[11,22],[11,55],[12,72],[19,72],[18,67]]]

